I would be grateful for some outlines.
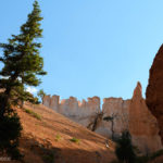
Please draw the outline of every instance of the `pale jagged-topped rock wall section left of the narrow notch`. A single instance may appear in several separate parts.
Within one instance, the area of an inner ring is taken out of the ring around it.
[[[59,96],[45,96],[42,103],[89,129],[92,129],[95,118],[100,113],[99,97],[88,98],[88,101],[83,100],[82,102],[70,97],[60,102]]]

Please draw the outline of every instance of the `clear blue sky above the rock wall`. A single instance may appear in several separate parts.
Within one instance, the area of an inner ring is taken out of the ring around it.
[[[18,34],[34,0],[0,1],[0,42]],[[47,93],[130,98],[163,42],[163,0],[39,0]]]

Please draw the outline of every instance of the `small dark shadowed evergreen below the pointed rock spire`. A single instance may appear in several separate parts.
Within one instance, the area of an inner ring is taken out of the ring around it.
[[[116,140],[115,154],[117,159],[122,162],[135,163],[136,162],[136,151],[135,147],[131,145],[130,134],[128,131],[123,131],[122,137]]]

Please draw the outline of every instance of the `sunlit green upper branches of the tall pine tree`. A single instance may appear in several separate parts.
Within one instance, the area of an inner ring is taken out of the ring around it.
[[[26,100],[29,93],[25,91],[25,86],[38,86],[40,79],[38,75],[46,75],[43,59],[39,55],[38,38],[42,35],[40,29],[40,9],[38,2],[34,2],[34,10],[28,14],[27,22],[21,26],[20,35],[12,35],[8,43],[0,43],[3,49],[3,57],[0,61],[3,68],[0,75],[0,88],[5,88],[5,93],[11,98],[11,92],[16,92],[17,98]],[[30,96],[29,96],[30,97]],[[32,98],[32,97],[30,97]]]

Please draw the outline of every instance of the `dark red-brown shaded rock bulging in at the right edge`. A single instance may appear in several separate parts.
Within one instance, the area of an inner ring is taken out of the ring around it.
[[[159,122],[163,143],[163,45],[158,51],[150,68],[146,103]]]

